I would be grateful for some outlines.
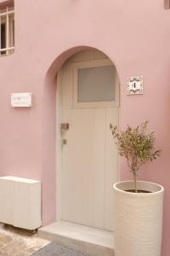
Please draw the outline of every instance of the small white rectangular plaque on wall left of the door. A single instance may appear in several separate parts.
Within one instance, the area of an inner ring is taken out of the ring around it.
[[[11,93],[11,107],[31,107],[31,92]]]

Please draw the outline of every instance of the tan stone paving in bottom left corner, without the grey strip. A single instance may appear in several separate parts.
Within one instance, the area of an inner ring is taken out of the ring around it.
[[[0,256],[29,256],[49,243],[37,234],[0,224]]]

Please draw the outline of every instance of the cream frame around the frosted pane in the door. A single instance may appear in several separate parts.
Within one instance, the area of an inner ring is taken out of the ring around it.
[[[116,86],[116,96],[113,102],[77,102],[77,73],[78,69],[88,67],[106,67],[114,64],[109,59],[95,60],[95,61],[81,61],[71,64],[72,68],[72,108],[113,108],[119,107],[119,88]],[[116,76],[116,84],[118,83]]]

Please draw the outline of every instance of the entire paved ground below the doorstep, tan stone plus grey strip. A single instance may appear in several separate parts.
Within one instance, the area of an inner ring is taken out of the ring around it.
[[[41,239],[37,234],[0,224],[0,256],[88,256]]]

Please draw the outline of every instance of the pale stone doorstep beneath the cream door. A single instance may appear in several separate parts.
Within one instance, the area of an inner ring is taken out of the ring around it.
[[[58,221],[38,230],[38,236],[91,256],[114,256],[113,232]]]

